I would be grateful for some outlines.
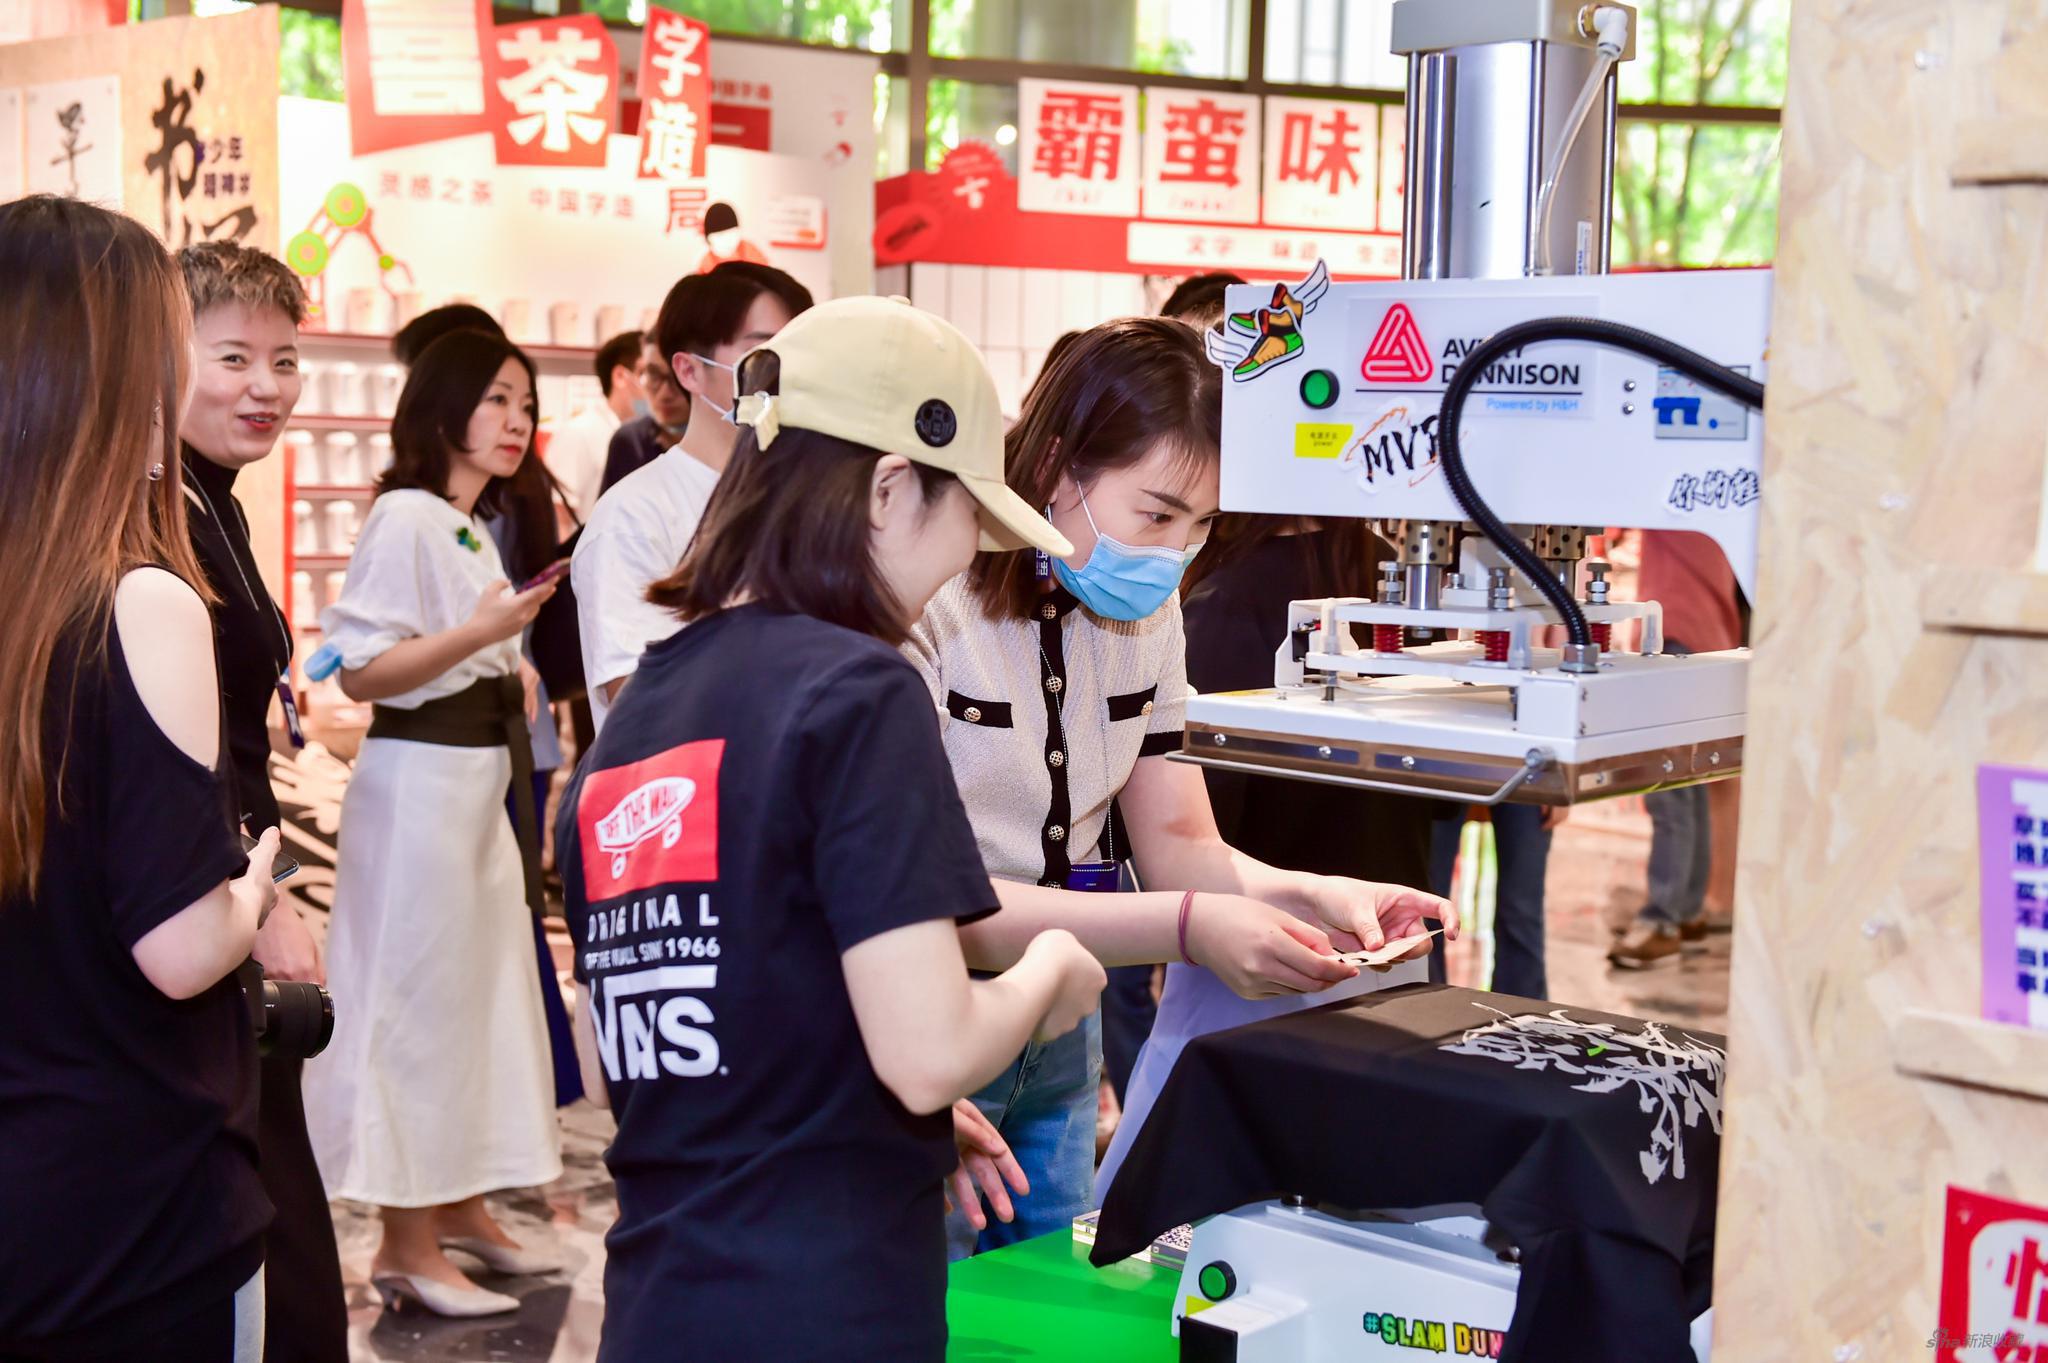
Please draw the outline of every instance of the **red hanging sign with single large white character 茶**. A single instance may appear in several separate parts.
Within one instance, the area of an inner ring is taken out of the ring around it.
[[[596,14],[485,37],[485,98],[500,166],[604,166],[618,113],[618,49]]]

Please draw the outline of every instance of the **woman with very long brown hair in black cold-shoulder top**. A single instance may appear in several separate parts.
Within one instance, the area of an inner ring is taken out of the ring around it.
[[[0,1359],[254,1361],[231,974],[276,831],[244,853],[221,780],[184,289],[139,223],[51,196],[0,207]]]

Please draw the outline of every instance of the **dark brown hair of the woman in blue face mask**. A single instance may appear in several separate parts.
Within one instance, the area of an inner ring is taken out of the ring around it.
[[[1004,481],[1042,508],[1061,477],[1085,487],[1161,440],[1190,467],[1212,465],[1221,438],[1223,370],[1202,354],[1202,336],[1171,317],[1120,317],[1047,360],[1004,438]],[[993,618],[1030,614],[1040,591],[1030,551],[979,555],[967,581]]]

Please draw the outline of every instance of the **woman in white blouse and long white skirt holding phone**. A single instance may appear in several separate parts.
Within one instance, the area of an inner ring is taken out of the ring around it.
[[[555,591],[514,593],[479,501],[532,456],[532,364],[502,336],[453,332],[406,377],[393,465],[322,614],[342,690],[375,702],[342,802],[328,986],[334,1044],[307,1066],[328,1193],[377,1203],[371,1281],[444,1316],[514,1310],[442,1252],[500,1273],[522,1250],[483,1193],[561,1173],[530,808],[532,669],[520,630]],[[520,833],[504,817],[512,786]]]

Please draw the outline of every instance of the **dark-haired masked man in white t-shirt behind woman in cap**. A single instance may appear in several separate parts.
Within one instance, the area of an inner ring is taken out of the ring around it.
[[[647,645],[678,624],[647,587],[682,563],[739,428],[733,366],[811,307],[811,291],[774,266],[727,262],[688,274],[662,303],[653,340],[690,395],[690,424],[651,465],[614,483],[584,524],[571,581],[584,636],[584,677],[598,729]]]

